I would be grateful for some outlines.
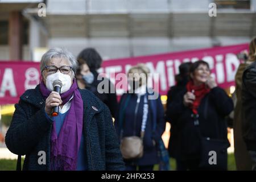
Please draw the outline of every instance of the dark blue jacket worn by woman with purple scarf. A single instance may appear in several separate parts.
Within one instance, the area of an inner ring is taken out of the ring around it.
[[[79,90],[84,102],[83,132],[89,170],[122,170],[124,163],[118,138],[108,107],[92,92]],[[45,101],[39,90],[27,90],[15,105],[11,125],[6,134],[6,146],[17,155],[26,155],[23,170],[49,170],[52,122],[44,112]],[[92,107],[98,110],[94,110]],[[46,152],[46,164],[39,164]]]

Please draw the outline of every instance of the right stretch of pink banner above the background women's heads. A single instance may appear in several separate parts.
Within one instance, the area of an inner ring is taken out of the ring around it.
[[[228,88],[234,85],[234,76],[240,64],[237,53],[248,51],[248,44],[235,46],[224,46],[197,49],[192,51],[181,51],[165,53],[152,56],[130,57],[127,59],[116,59],[104,61],[101,72],[109,75],[115,85],[117,73],[127,73],[132,65],[144,63],[150,68],[151,73],[159,73],[159,93],[166,95],[170,86],[175,85],[175,75],[179,73],[179,65],[188,61],[203,59],[209,63],[211,74],[216,78],[218,86]],[[113,72],[115,74],[113,74]],[[117,90],[117,93],[121,90]]]

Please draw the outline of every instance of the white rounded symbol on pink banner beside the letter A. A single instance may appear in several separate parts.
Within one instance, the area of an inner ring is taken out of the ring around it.
[[[36,68],[28,68],[25,72],[26,80],[24,82],[24,88],[34,89],[39,83],[39,72]]]

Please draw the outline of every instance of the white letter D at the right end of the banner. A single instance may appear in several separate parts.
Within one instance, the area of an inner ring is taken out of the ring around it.
[[[234,77],[239,67],[240,61],[237,59],[237,56],[233,53],[226,54],[226,81],[234,81]],[[234,69],[232,68],[234,66]]]

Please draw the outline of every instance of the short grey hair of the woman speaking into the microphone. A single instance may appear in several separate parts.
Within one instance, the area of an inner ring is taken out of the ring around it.
[[[79,67],[76,57],[73,56],[73,54],[69,52],[67,49],[63,49],[63,48],[52,48],[52,49],[49,49],[49,51],[47,51],[46,53],[44,53],[40,61],[41,72],[44,71],[44,68],[46,68],[48,61],[51,61],[53,57],[62,57],[64,59],[67,59],[71,64],[74,75],[76,74],[77,68]]]

